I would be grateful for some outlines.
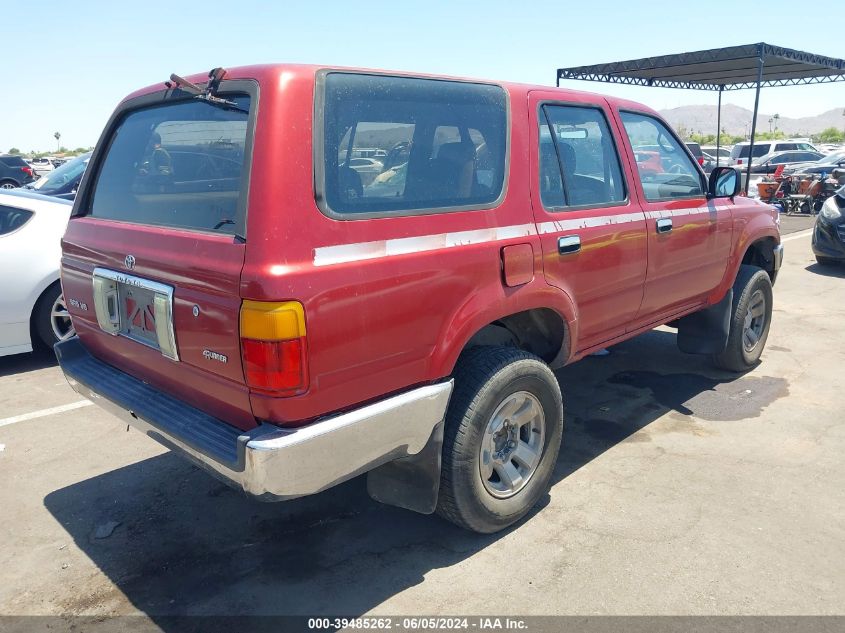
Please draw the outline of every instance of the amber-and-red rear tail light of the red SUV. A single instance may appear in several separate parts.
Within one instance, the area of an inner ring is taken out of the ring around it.
[[[244,301],[241,354],[246,382],[256,391],[292,396],[308,389],[305,309],[298,301]]]

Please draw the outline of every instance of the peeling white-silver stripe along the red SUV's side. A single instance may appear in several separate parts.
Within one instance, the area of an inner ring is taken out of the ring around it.
[[[382,257],[393,257],[395,255],[424,253],[427,251],[452,248],[454,246],[500,242],[520,237],[529,237],[531,235],[536,235],[538,232],[541,235],[547,235],[549,233],[563,233],[565,231],[577,231],[578,229],[594,228],[598,226],[631,224],[634,222],[642,222],[646,217],[659,219],[710,214],[713,211],[724,211],[728,208],[729,207],[726,206],[705,206],[673,209],[671,211],[648,211],[646,213],[617,213],[614,215],[601,215],[589,218],[542,222],[536,227],[534,224],[514,224],[511,226],[477,229],[474,231],[436,233],[433,235],[419,235],[416,237],[400,237],[392,240],[359,242],[357,244],[321,246],[314,249],[314,265],[331,266],[333,264],[345,264],[348,262],[365,261],[368,259],[380,259]]]

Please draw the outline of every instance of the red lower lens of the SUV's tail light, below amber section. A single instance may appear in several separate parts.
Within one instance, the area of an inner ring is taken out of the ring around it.
[[[244,372],[250,387],[274,394],[302,393],[308,384],[305,339],[256,341],[241,339]]]

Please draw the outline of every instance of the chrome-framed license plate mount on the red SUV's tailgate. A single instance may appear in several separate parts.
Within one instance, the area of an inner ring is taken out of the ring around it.
[[[114,270],[94,270],[94,309],[100,329],[179,360],[173,330],[173,287]]]

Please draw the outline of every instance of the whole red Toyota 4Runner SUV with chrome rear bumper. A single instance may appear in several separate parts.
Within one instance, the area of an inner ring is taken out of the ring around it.
[[[368,473],[379,501],[494,532],[549,487],[553,368],[664,323],[722,368],[758,362],[777,214],[737,170],[705,177],[653,110],[223,72],[188,78],[205,95],[137,91],[107,123],[62,241],[78,338],[56,352],[80,394],[232,485],[281,500]],[[186,138],[226,138],[238,172],[144,168]],[[660,171],[631,164],[640,145]],[[364,187],[356,147],[385,151],[396,185]]]

